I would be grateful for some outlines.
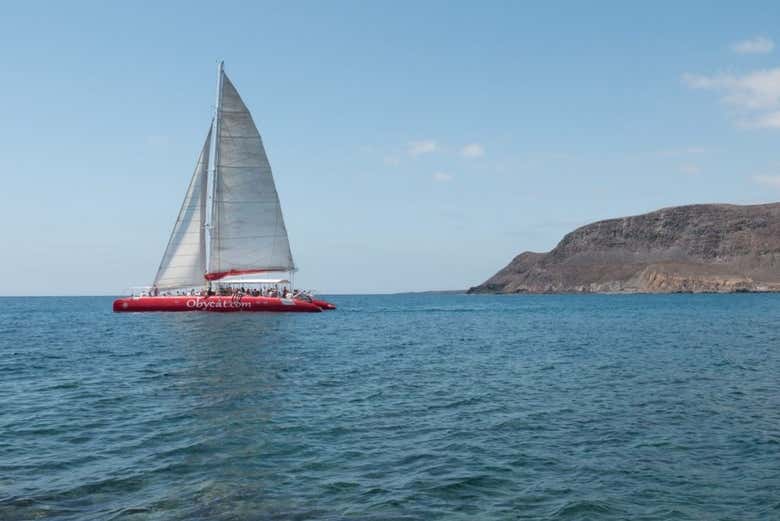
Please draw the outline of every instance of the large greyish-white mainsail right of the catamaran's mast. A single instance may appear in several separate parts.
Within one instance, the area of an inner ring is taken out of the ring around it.
[[[294,269],[271,165],[252,115],[222,73],[208,272]]]

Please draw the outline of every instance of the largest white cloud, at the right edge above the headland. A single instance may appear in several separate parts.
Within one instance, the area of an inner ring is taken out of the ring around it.
[[[737,109],[741,126],[780,128],[780,67],[741,76],[684,74],[682,81],[691,89],[721,93],[721,101]]]

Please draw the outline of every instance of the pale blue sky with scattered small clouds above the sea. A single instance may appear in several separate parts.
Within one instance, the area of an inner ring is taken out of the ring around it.
[[[14,2],[0,295],[151,283],[222,59],[296,283],[459,289],[600,219],[780,200],[776,2]]]

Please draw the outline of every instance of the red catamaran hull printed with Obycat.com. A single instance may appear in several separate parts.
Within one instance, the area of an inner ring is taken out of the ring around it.
[[[320,301],[323,305],[327,304]],[[335,308],[335,306],[334,306]],[[276,297],[126,297],[114,301],[114,311],[276,311],[318,313],[320,306],[297,299],[282,299]]]

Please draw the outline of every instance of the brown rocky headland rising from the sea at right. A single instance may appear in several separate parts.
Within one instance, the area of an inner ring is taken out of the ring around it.
[[[609,219],[525,252],[469,293],[780,291],[780,203]]]

